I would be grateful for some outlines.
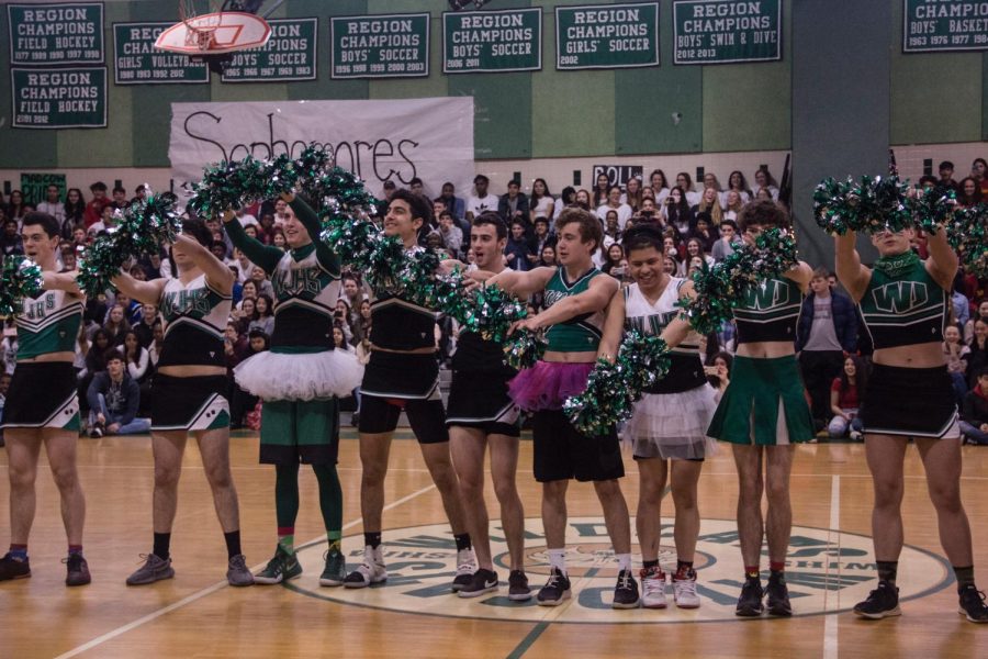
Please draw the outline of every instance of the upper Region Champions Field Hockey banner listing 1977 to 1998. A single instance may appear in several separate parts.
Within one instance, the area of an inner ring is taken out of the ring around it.
[[[103,64],[103,4],[8,4],[11,66]]]

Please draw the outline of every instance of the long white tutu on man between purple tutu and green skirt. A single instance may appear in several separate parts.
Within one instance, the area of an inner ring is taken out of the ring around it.
[[[647,393],[635,403],[621,439],[637,458],[695,460],[714,455],[717,442],[707,427],[717,403],[709,384],[682,393]]]

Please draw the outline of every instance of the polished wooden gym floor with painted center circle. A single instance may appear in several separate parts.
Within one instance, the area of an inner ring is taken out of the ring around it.
[[[902,617],[877,623],[847,610],[874,585],[872,485],[864,448],[851,444],[798,447],[793,473],[794,540],[789,584],[797,616],[743,622],[733,616],[741,574],[733,517],[737,477],[729,450],[704,467],[698,546],[703,606],[682,611],[611,611],[614,563],[590,485],[573,483],[568,566],[574,597],[544,608],[492,595],[448,594],[454,548],[439,495],[407,431],[398,433],[386,483],[385,546],[391,570],[383,588],[318,587],[325,549],[315,478],[303,470],[296,544],[303,576],[283,587],[225,584],[223,537],[198,450],[190,444],[172,536],[176,578],[127,588],[124,579],[150,549],[153,466],[147,437],[81,439],[86,491],[86,555],[93,583],[66,589],[65,535],[47,467],[40,473],[37,518],[31,535],[33,577],[0,584],[0,657],[958,657],[988,656],[988,625],[957,614],[948,563],[914,448],[907,456],[903,503],[907,549],[900,567]],[[356,434],[345,431],[340,479],[346,498],[344,549],[359,561],[360,463]],[[531,445],[523,442],[518,483],[528,518],[526,561],[532,585],[544,581],[539,491]],[[988,449],[964,448],[964,498],[975,537],[981,588],[988,585]],[[43,458],[44,460],[44,458]],[[257,465],[257,438],[232,440],[244,551],[260,567],[274,548],[273,470]],[[630,459],[622,485],[632,515],[638,474]],[[0,492],[8,495],[0,451]],[[495,555],[498,517],[487,483]],[[663,516],[672,514],[670,498]],[[0,543],[9,540],[5,502]],[[666,520],[670,522],[670,520]],[[603,539],[602,539],[603,538]],[[499,559],[499,560],[501,560]],[[663,565],[675,561],[663,527]],[[636,557],[636,561],[638,557]],[[767,560],[767,559],[765,559]],[[636,562],[636,565],[638,565]],[[765,562],[763,561],[763,568]],[[504,565],[498,568],[507,578]]]

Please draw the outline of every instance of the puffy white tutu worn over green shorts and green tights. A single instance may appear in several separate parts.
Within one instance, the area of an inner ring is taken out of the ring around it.
[[[346,398],[363,379],[355,353],[285,354],[265,350],[234,369],[237,384],[265,401]]]

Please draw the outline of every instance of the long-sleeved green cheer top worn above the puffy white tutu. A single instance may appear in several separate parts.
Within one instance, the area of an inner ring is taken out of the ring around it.
[[[319,220],[300,199],[291,202],[313,242],[282,252],[262,245],[236,220],[226,223],[233,244],[271,277],[274,289],[273,353],[319,353],[333,349],[333,313],[339,299],[339,259],[319,241]]]

